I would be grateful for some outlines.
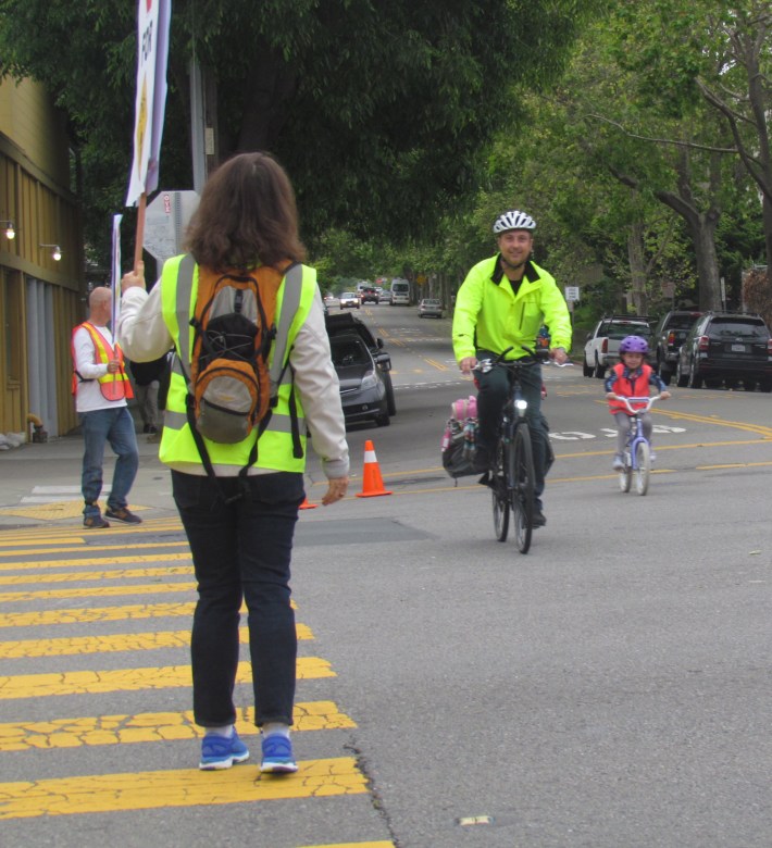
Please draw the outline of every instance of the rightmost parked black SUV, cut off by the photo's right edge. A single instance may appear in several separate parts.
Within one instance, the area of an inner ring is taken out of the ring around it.
[[[689,329],[678,352],[678,386],[726,388],[742,382],[747,391],[758,384],[772,391],[772,338],[760,315],[706,312]]]

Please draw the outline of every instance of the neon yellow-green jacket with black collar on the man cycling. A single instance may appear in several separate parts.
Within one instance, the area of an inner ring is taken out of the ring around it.
[[[528,260],[515,295],[499,255],[478,262],[459,289],[453,313],[456,361],[478,350],[501,353],[509,347],[514,350],[507,359],[520,359],[526,356],[521,346],[533,348],[543,324],[552,337],[550,347],[571,350],[571,315],[555,278]]]

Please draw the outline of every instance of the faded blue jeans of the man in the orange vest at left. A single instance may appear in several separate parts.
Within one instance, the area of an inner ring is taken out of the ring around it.
[[[117,454],[112,489],[108,497],[108,509],[126,507],[126,496],[137,476],[139,454],[137,453],[137,437],[134,433],[134,419],[127,407],[80,412],[79,419],[84,441],[80,489],[86,502],[83,514],[88,519],[99,515],[97,501],[102,491],[102,462],[105,442],[109,441],[113,452]]]

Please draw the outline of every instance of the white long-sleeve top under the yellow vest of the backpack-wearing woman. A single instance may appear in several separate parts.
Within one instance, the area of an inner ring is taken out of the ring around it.
[[[150,294],[134,286],[121,299],[117,337],[124,354],[136,362],[149,362],[163,356],[174,344],[161,311],[163,278]],[[306,323],[298,331],[289,353],[295,372],[295,388],[300,396],[311,445],[328,479],[349,473],[346,422],[340,406],[340,384],[329,356],[329,338],[324,324],[324,307],[317,290]],[[200,470],[179,469],[187,473]],[[265,472],[250,469],[250,473]]]

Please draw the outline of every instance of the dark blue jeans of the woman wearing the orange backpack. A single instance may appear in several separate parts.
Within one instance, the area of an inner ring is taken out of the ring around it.
[[[214,483],[173,471],[172,491],[198,582],[190,639],[196,723],[219,727],[236,720],[233,691],[244,598],[254,723],[291,724],[298,643],[289,561],[304,497],[302,474],[220,477]],[[239,491],[240,498],[226,502]]]

